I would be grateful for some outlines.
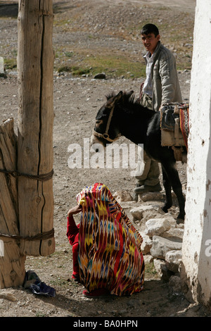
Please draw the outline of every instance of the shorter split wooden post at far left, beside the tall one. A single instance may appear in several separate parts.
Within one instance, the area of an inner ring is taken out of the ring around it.
[[[20,252],[20,241],[14,239],[19,236],[18,192],[11,175],[16,170],[16,142],[13,119],[6,120],[0,126],[0,239],[4,244],[0,289],[22,285],[25,277],[25,255]]]

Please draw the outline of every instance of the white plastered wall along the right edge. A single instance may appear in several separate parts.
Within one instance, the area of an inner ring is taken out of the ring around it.
[[[211,0],[196,1],[183,258],[193,299],[211,307]]]

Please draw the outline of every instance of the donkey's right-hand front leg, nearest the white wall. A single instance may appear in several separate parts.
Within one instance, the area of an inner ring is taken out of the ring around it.
[[[179,174],[176,168],[176,163],[175,162],[169,162],[165,163],[163,165],[165,168],[165,171],[167,173],[167,177],[170,180],[170,183],[172,185],[172,189],[174,193],[177,196],[177,200],[179,203],[179,215],[177,216],[177,223],[183,223],[184,222],[184,217],[185,217],[185,199],[184,195],[182,193],[182,187],[181,187],[181,182],[179,179]]]

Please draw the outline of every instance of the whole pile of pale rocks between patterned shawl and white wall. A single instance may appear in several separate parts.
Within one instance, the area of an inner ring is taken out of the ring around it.
[[[175,292],[183,292],[179,276],[182,258],[184,224],[177,224],[170,213],[164,213],[160,206],[162,193],[143,194],[135,202],[128,192],[116,192],[119,201],[130,220],[139,230],[143,243],[145,261],[153,263],[162,280],[170,282]],[[148,201],[149,204],[146,204]],[[152,201],[156,201],[153,204]],[[160,201],[160,202],[159,202]]]

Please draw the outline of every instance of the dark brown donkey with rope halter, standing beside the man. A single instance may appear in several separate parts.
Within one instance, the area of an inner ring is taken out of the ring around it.
[[[100,143],[106,147],[124,136],[134,144],[143,144],[143,149],[155,161],[162,165],[162,182],[165,188],[165,203],[162,211],[168,212],[172,206],[172,192],[177,196],[179,215],[177,223],[184,223],[185,199],[176,167],[174,151],[168,146],[161,146],[160,112],[144,108],[134,100],[134,92],[122,92],[107,96],[96,115],[95,126],[91,135],[91,144]],[[185,154],[186,154],[186,148]]]

